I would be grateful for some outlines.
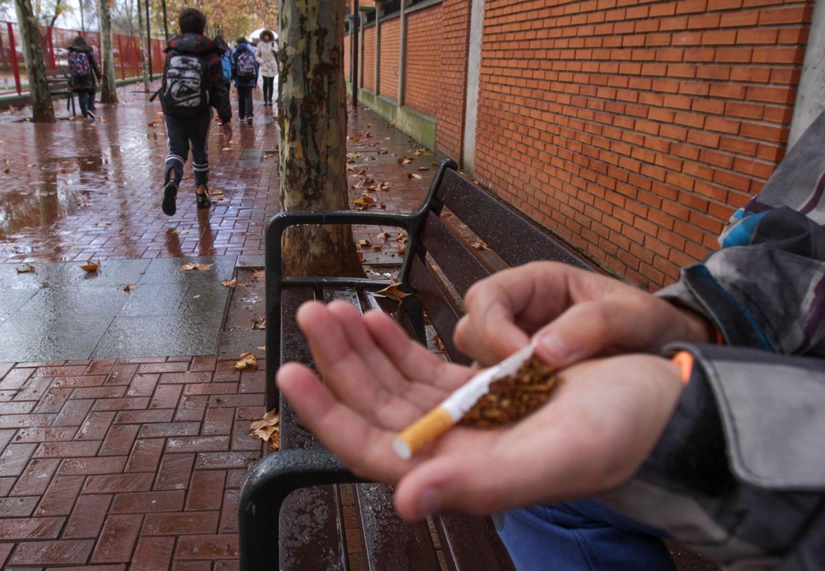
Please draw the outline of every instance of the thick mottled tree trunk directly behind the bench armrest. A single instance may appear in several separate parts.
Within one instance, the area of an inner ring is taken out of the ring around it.
[[[346,210],[344,0],[281,0],[278,133],[281,209]],[[350,227],[292,227],[287,275],[363,275]]]

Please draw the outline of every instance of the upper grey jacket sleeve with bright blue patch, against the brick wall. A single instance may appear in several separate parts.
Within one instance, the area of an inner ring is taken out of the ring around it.
[[[727,344],[825,356],[823,165],[825,113],[733,215],[722,248],[657,295],[700,311]]]

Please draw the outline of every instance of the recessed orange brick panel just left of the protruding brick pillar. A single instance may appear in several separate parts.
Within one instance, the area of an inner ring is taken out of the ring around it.
[[[407,16],[404,105],[433,117],[442,96],[441,36],[441,4]]]

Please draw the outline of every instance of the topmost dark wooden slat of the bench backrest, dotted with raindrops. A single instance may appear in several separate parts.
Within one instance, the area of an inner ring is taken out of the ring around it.
[[[436,196],[511,266],[554,260],[592,269],[523,214],[483,192],[456,171],[446,171]]]

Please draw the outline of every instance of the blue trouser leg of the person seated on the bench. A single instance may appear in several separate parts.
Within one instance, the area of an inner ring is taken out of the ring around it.
[[[585,499],[493,517],[519,571],[675,571],[661,531]]]

